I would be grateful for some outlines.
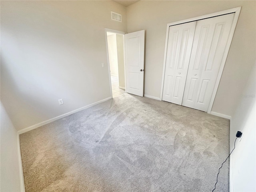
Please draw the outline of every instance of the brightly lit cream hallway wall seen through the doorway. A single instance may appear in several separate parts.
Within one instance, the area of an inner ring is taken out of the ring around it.
[[[114,76],[118,76],[116,34],[108,35],[108,55],[109,55],[110,74]]]

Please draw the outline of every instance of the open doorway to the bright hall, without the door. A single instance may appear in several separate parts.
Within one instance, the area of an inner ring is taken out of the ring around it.
[[[124,94],[126,91],[124,67],[124,34],[106,31],[108,62],[110,70],[110,85],[112,97]]]

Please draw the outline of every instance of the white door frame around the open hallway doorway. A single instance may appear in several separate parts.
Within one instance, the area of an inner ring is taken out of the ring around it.
[[[111,82],[111,74],[110,74],[110,62],[109,62],[109,55],[108,55],[108,36],[107,36],[107,32],[117,33],[117,34],[121,34],[121,35],[125,35],[126,32],[105,28],[106,48],[107,48],[107,57],[108,57],[108,76],[109,76],[109,84],[110,84],[110,94],[111,94],[111,97],[113,98],[112,82]],[[124,42],[124,38],[123,38],[123,42]],[[124,85],[125,85],[125,92],[126,92],[125,42],[123,43],[123,46],[124,46]]]

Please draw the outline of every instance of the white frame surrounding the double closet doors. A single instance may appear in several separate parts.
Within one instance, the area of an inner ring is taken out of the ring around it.
[[[213,93],[212,93],[212,98],[210,100],[210,104],[209,104],[207,113],[210,113],[212,111],[212,105],[213,105],[213,102],[214,102],[214,99],[215,99],[215,96],[216,96],[216,93],[217,93],[217,90],[218,90],[218,86],[219,86],[219,83],[220,83],[220,78],[222,76],[222,72],[224,70],[225,62],[226,62],[226,59],[228,57],[228,51],[229,51],[230,44],[231,44],[231,41],[232,41],[232,38],[233,38],[233,35],[234,35],[234,31],[235,31],[235,28],[236,28],[236,24],[237,24],[237,21],[238,21],[238,17],[239,17],[241,8],[242,7],[237,7],[237,8],[233,8],[233,9],[228,9],[228,10],[224,10],[224,11],[220,11],[220,12],[215,12],[215,13],[202,15],[202,16],[198,16],[198,17],[193,17],[193,18],[189,18],[189,19],[185,19],[185,20],[181,20],[181,21],[172,22],[172,23],[167,24],[165,48],[164,48],[164,64],[163,64],[163,73],[162,73],[162,84],[161,84],[161,93],[160,93],[160,99],[161,100],[162,100],[162,97],[163,97],[163,89],[164,89],[164,73],[165,73],[165,66],[166,66],[166,54],[167,54],[169,27],[173,26],[173,25],[186,23],[186,22],[192,22],[192,21],[202,20],[202,19],[206,19],[206,18],[210,18],[210,17],[216,17],[216,16],[220,16],[220,15],[224,15],[224,14],[235,13],[234,19],[233,19],[233,22],[232,22],[232,26],[231,26],[231,29],[230,29],[230,33],[229,33],[229,36],[228,36],[228,41],[227,41],[227,44],[226,44],[226,48],[225,48],[225,51],[224,51],[224,55],[223,55],[223,58],[222,58],[222,61],[221,61],[221,64],[220,64],[220,70],[218,72],[218,76],[217,76],[217,79],[216,79],[216,83],[215,83],[215,86],[214,86],[214,90],[213,90]]]

